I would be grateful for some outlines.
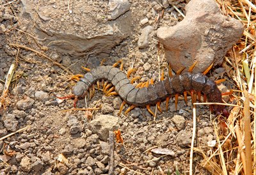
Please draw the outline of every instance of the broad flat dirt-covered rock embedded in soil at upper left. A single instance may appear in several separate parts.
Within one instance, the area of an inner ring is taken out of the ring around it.
[[[43,45],[56,49],[61,53],[72,56],[93,54],[108,55],[112,48],[131,34],[131,13],[129,2],[122,1],[115,6],[116,12],[109,14],[109,8],[114,10],[113,2],[99,1],[99,3],[71,3],[68,1],[22,0],[23,27],[29,26],[29,20],[35,25],[35,33],[42,38]],[[114,2],[115,4],[115,2]],[[114,10],[114,11],[115,11]],[[125,13],[125,15],[122,15]],[[113,19],[108,18],[113,15]],[[121,15],[121,16],[120,16]],[[120,16],[120,17],[119,17]],[[114,18],[115,17],[115,18]],[[26,29],[25,29],[26,30]]]

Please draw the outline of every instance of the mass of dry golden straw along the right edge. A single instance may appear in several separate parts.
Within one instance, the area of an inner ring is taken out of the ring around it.
[[[218,132],[214,125],[217,146],[210,154],[201,149],[201,165],[212,174],[256,174],[256,5],[249,0],[217,0],[226,15],[244,24],[243,38],[230,49],[223,67],[234,82],[230,98],[233,107],[225,121],[227,130]]]

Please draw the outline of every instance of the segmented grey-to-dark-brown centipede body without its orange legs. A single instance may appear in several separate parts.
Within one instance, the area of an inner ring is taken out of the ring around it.
[[[207,96],[208,102],[222,103],[221,92],[216,83],[202,73],[183,73],[173,75],[165,80],[156,82],[147,88],[135,88],[124,72],[113,66],[99,66],[86,73],[83,78],[73,87],[72,93],[82,97],[92,84],[97,80],[108,80],[115,86],[115,91],[125,102],[145,107],[148,104],[155,104],[164,100],[167,96],[172,96],[184,91],[202,91]],[[215,112],[221,112],[223,105],[213,105]]]

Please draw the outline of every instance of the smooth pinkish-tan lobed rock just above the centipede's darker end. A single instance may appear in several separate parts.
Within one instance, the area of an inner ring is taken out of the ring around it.
[[[167,61],[176,72],[198,61],[200,73],[212,63],[220,65],[232,45],[241,38],[243,24],[221,13],[214,0],[191,0],[186,17],[173,27],[161,27],[157,37],[164,45]]]

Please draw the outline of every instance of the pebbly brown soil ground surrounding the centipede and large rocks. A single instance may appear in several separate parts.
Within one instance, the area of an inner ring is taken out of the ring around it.
[[[115,144],[115,174],[186,174],[193,127],[191,100],[185,105],[180,97],[175,110],[172,99],[168,111],[157,114],[154,121],[147,109],[139,107],[118,116],[122,103],[118,96],[97,92],[87,105],[99,110],[89,112],[64,111],[72,109],[74,101],[56,96],[70,95],[75,83],[70,78],[72,73],[84,73],[81,65],[93,68],[122,59],[124,72],[133,66],[137,71],[132,77],[140,75],[140,82],[159,80],[161,69],[167,75],[161,47],[157,54],[156,30],[182,20],[175,8],[185,13],[187,3],[70,1],[68,11],[68,1],[2,1],[1,93],[10,65],[15,63],[17,68],[8,96],[1,99],[0,138],[28,128],[1,139],[0,173],[108,174],[108,131],[120,129],[124,144]],[[209,77],[221,79],[223,71],[215,67]],[[84,100],[77,103],[79,108],[85,106]],[[165,109],[165,102],[161,107]],[[198,106],[196,112],[196,147],[206,153],[212,150],[207,142],[215,139],[209,108]],[[208,173],[200,166],[201,160],[195,154],[195,174]]]

